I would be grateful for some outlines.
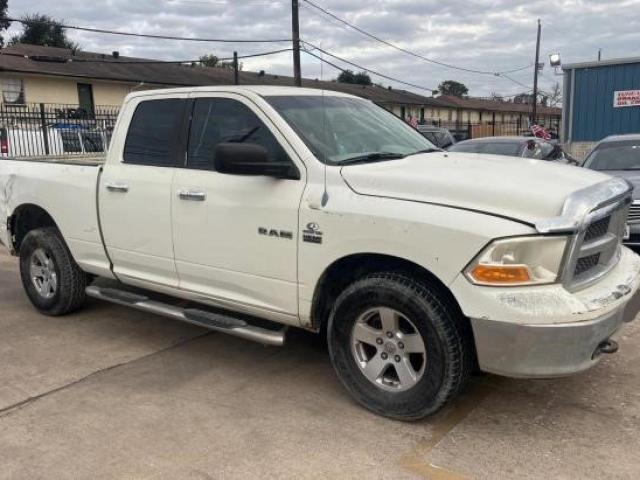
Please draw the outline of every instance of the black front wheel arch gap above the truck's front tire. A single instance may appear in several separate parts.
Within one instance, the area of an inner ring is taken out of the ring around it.
[[[336,298],[349,284],[365,275],[382,271],[402,273],[437,288],[442,295],[447,297],[450,304],[459,310],[460,315],[464,317],[460,304],[451,290],[425,267],[394,255],[358,253],[346,255],[335,260],[320,276],[314,289],[311,306],[313,329],[322,334],[326,332],[331,308]],[[467,322],[469,322],[468,319]],[[471,322],[469,322],[469,328],[471,328]]]

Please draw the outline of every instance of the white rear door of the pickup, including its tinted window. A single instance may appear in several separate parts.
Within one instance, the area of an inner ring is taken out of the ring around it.
[[[173,258],[171,184],[184,164],[179,147],[185,121],[183,98],[139,97],[127,105],[126,139],[112,144],[99,185],[99,212],[114,272],[130,283],[177,287]]]

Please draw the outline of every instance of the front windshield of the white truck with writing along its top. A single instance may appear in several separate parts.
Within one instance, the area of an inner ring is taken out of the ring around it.
[[[268,96],[266,100],[314,155],[331,165],[437,151],[416,130],[368,100],[330,94]]]

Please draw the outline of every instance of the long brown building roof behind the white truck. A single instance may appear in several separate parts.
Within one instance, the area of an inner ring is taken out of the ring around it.
[[[159,86],[205,86],[233,84],[233,71],[172,64],[145,58],[72,51],[67,48],[17,44],[0,50],[0,71],[55,75],[96,80],[144,83]],[[242,85],[293,85],[293,77],[265,72],[240,71]],[[450,96],[425,97],[417,93],[378,85],[357,85],[304,78],[303,87],[324,88],[367,98],[381,105],[414,105],[432,108],[528,113],[530,105]],[[559,108],[539,107],[541,114],[560,115]]]

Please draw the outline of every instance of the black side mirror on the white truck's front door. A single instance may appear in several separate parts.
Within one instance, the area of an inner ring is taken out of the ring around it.
[[[270,162],[267,149],[253,143],[219,143],[215,148],[217,172],[231,175],[263,175],[300,179],[291,162]]]

